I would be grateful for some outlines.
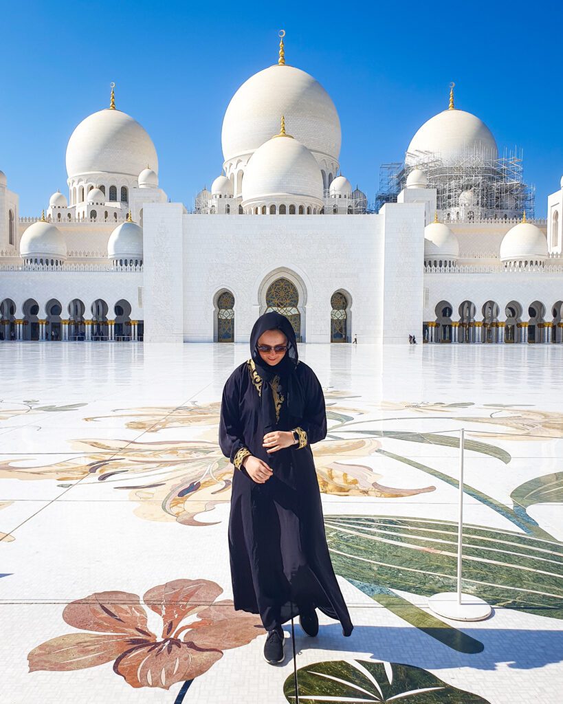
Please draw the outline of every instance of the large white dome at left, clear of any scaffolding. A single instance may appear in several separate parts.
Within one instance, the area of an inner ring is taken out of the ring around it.
[[[90,173],[137,176],[158,157],[151,137],[127,113],[107,108],[89,115],[70,135],[66,148],[68,177]]]

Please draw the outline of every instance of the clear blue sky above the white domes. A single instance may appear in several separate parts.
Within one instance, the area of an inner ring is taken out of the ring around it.
[[[78,122],[117,106],[158,151],[172,201],[219,175],[232,94],[277,61],[329,92],[342,125],[341,170],[372,201],[379,166],[400,161],[422,122],[448,106],[479,115],[499,147],[524,149],[536,216],[563,174],[563,4],[151,1],[2,3],[0,169],[36,215],[68,193],[65,150]]]

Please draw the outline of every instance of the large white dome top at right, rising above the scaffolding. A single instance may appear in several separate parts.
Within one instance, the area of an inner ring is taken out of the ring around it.
[[[412,137],[405,162],[413,165],[436,155],[444,163],[454,163],[468,154],[484,159],[498,158],[493,133],[472,113],[444,110],[430,118]]]

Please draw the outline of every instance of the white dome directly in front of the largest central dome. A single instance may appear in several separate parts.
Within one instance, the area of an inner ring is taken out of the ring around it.
[[[293,200],[322,205],[322,175],[317,160],[297,139],[272,137],[257,149],[242,182],[242,205],[248,201]]]

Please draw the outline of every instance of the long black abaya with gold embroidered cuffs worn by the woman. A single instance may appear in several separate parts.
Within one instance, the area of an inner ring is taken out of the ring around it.
[[[308,365],[296,361],[293,375],[303,394],[301,417],[289,414],[287,392],[281,393],[278,377],[262,379],[253,360],[236,367],[224,386],[219,441],[235,467],[229,515],[234,608],[259,613],[267,630],[319,608],[339,620],[349,636],[353,625],[330,560],[310,448],[327,434],[324,396]],[[298,444],[270,454],[262,447],[271,429],[265,431],[262,420],[266,383],[272,392],[274,429],[296,428],[300,437]],[[272,468],[274,474],[264,484],[254,482],[241,465],[249,454]]]

